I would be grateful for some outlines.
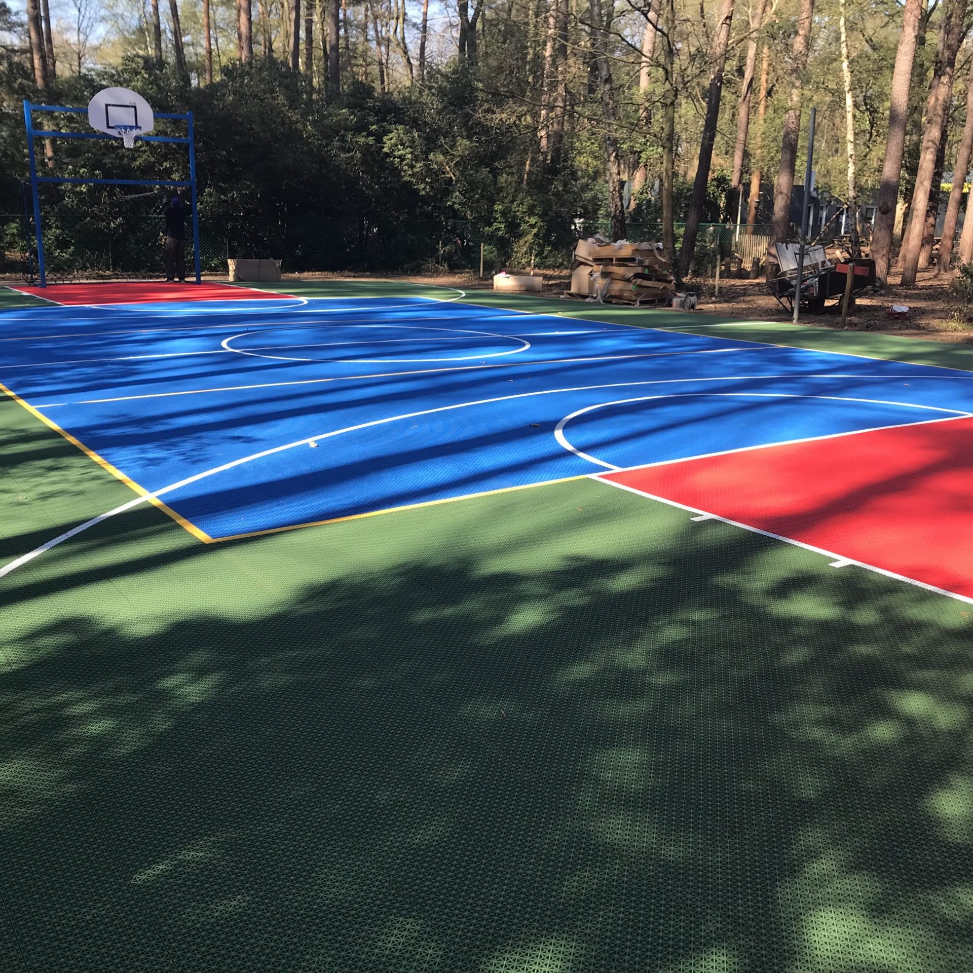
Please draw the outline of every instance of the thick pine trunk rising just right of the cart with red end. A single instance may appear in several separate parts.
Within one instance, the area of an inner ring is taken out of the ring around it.
[[[895,53],[895,68],[892,72],[882,182],[876,200],[875,228],[872,231],[872,245],[869,249],[875,261],[876,276],[883,287],[888,283],[892,230],[895,226],[895,209],[899,198],[899,178],[902,175],[902,153],[906,144],[909,89],[912,83],[921,14],[922,0],[906,0],[898,50]]]

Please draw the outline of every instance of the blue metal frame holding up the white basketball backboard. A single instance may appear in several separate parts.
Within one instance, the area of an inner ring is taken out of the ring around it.
[[[30,162],[30,193],[34,203],[34,233],[37,237],[37,275],[41,287],[48,286],[47,269],[44,262],[44,230],[41,225],[41,198],[38,186],[48,184],[67,183],[75,186],[179,186],[187,187],[192,201],[190,208],[193,212],[193,252],[195,254],[196,282],[201,283],[202,272],[199,266],[199,215],[197,212],[196,192],[196,134],[193,126],[193,113],[186,112],[156,112],[157,119],[176,119],[186,123],[186,137],[178,138],[170,135],[136,135],[140,142],[174,142],[189,148],[189,179],[85,179],[81,177],[39,176],[37,174],[37,156],[34,152],[35,138],[100,138],[114,141],[113,135],[100,131],[54,131],[49,128],[34,127],[34,112],[65,112],[71,115],[87,115],[87,108],[70,108],[66,105],[35,105],[26,98],[23,99],[23,122],[27,131],[27,158]]]

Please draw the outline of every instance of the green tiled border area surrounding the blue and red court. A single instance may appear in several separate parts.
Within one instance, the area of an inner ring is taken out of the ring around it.
[[[0,565],[134,495],[10,396],[0,491]],[[0,578],[0,969],[973,969],[971,636],[966,600],[587,475],[216,544],[134,507]]]

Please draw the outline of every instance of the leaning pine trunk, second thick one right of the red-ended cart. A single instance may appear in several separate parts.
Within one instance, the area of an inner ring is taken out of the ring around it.
[[[926,206],[932,190],[932,179],[939,152],[943,126],[946,124],[947,110],[953,94],[953,74],[956,53],[963,35],[963,18],[966,13],[966,0],[947,0],[939,31],[941,43],[938,45],[933,83],[925,107],[925,126],[922,131],[922,147],[919,152],[919,169],[916,173],[916,188],[913,191],[911,215],[905,238],[902,241],[902,286],[913,287],[919,270],[919,250],[925,230]]]

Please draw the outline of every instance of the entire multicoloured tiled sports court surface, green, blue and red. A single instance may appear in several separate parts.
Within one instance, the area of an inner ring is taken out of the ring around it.
[[[11,968],[970,968],[973,353],[18,293]]]

